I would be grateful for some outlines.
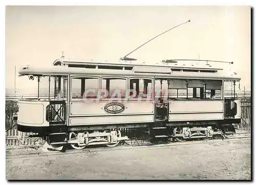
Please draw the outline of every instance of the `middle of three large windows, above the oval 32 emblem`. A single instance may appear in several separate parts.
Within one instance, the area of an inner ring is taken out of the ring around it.
[[[106,94],[102,93],[102,99],[106,98],[125,98],[126,79],[123,78],[103,78],[101,80],[101,89],[105,89]],[[108,96],[107,96],[108,95]]]

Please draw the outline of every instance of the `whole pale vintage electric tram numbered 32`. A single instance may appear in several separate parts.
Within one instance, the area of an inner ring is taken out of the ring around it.
[[[38,83],[36,99],[18,100],[17,128],[35,132],[50,147],[114,147],[128,139],[120,129],[148,129],[152,138],[212,138],[241,122],[235,73],[210,65],[132,61],[76,61],[61,57],[48,68],[25,66],[19,76]],[[188,62],[189,63],[189,62]],[[49,97],[40,98],[41,79]],[[225,84],[233,95],[225,96]],[[50,93],[54,89],[54,94]]]

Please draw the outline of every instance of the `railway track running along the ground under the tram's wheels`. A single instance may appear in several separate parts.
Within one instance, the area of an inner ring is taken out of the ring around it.
[[[241,134],[241,133],[239,133]],[[31,153],[23,153],[23,154],[7,154],[6,159],[12,159],[12,158],[28,158],[28,157],[40,157],[40,156],[51,156],[51,155],[70,155],[70,154],[79,154],[79,153],[90,153],[90,152],[97,152],[97,151],[110,151],[110,150],[125,150],[125,149],[141,149],[141,148],[158,148],[158,147],[170,147],[170,146],[184,146],[184,145],[198,145],[198,144],[207,144],[207,143],[221,143],[221,142],[231,142],[231,141],[243,141],[243,140],[250,140],[251,136],[242,136],[242,137],[236,137],[236,138],[230,138],[227,137],[225,139],[212,139],[212,140],[200,140],[200,141],[186,141],[186,142],[174,142],[174,143],[158,143],[158,144],[137,144],[137,145],[131,145],[131,144],[124,144],[119,145],[114,148],[108,148],[108,147],[97,147],[97,148],[86,148],[82,150],[75,150],[70,149],[66,150],[65,152],[60,151],[49,151],[49,152],[31,152]]]

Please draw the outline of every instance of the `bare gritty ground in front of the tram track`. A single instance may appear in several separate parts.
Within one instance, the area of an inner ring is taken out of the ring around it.
[[[21,150],[21,149],[19,149]],[[251,179],[250,140],[6,159],[7,179]]]

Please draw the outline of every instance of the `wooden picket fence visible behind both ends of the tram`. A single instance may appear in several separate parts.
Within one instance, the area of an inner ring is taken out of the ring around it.
[[[13,113],[17,112],[18,108],[8,107],[6,108],[6,147],[16,148],[17,146],[33,146],[42,142],[41,138],[29,137],[29,135],[35,135],[37,133],[32,132],[20,132],[17,131],[16,122],[13,121]],[[241,124],[238,126],[238,130],[250,131],[251,130],[251,102],[241,103]],[[131,134],[131,129],[122,129],[122,133]]]

